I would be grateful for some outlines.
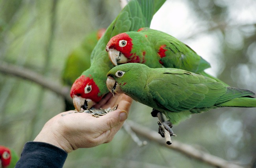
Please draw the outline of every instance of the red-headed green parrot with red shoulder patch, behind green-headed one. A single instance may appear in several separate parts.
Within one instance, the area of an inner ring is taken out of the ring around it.
[[[189,46],[167,33],[148,27],[112,37],[106,51],[115,66],[133,62],[150,68],[178,68],[222,82],[204,71],[211,67],[210,64]]]

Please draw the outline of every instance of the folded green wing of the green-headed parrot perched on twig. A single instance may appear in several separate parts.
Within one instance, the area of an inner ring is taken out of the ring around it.
[[[169,68],[159,71],[161,73],[149,81],[148,87],[159,106],[169,111],[180,112],[197,106],[211,107],[226,92],[223,84],[195,73]]]

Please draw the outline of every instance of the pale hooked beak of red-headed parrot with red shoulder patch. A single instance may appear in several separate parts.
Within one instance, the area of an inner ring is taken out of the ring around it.
[[[116,49],[109,49],[108,57],[114,66],[128,62],[128,59],[120,51],[117,51]]]

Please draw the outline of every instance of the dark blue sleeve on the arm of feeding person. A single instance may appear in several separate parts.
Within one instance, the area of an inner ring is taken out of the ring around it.
[[[27,142],[15,168],[62,168],[67,152],[44,142]]]

